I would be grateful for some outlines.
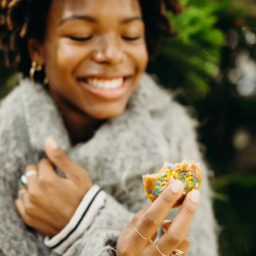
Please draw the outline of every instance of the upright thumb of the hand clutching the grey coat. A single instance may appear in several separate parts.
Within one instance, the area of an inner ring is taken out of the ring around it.
[[[44,147],[45,153],[52,164],[57,166],[68,179],[77,181],[81,179],[81,174],[87,173],[61,149],[58,142],[52,136],[46,138]]]

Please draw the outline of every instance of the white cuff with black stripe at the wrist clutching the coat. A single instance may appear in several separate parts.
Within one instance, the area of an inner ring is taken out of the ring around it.
[[[93,185],[78,205],[67,226],[60,233],[44,238],[44,244],[57,254],[62,254],[91,225],[95,215],[105,204],[106,194],[98,185]]]

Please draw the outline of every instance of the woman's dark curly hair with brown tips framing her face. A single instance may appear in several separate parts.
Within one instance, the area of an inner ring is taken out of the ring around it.
[[[6,66],[17,66],[24,76],[29,76],[31,65],[26,41],[36,38],[43,42],[51,2],[0,0],[0,49],[4,50]],[[162,37],[175,35],[167,18],[167,10],[177,14],[182,12],[183,7],[179,0],[139,0],[139,3],[145,22],[149,59],[154,60]]]

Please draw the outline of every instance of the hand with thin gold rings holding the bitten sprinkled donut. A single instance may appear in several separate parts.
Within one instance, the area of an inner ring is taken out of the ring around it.
[[[145,209],[135,214],[119,235],[117,240],[117,253],[121,256],[162,256],[170,255],[175,249],[179,249],[188,255],[189,238],[187,231],[194,217],[199,201],[199,191],[190,191],[183,202],[179,213],[172,222],[164,221],[183,191],[183,183],[175,181],[167,186],[156,201]],[[163,222],[164,221],[164,222]],[[163,222],[165,234],[157,241],[158,252],[154,238],[157,228]],[[151,237],[151,239],[145,239]],[[175,255],[175,254],[173,254]]]

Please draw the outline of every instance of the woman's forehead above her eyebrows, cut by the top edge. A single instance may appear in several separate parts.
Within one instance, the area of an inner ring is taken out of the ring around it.
[[[97,17],[140,16],[139,0],[53,0],[50,16],[63,19],[71,15],[90,14]]]

